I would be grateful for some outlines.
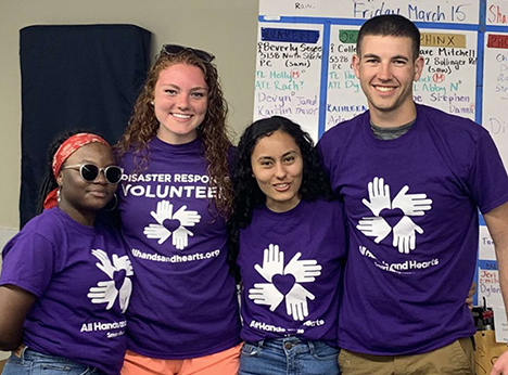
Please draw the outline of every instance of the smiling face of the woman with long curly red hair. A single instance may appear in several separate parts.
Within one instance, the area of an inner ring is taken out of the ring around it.
[[[161,72],[153,93],[157,137],[170,144],[182,144],[198,137],[198,126],[206,116],[208,87],[203,72],[183,63]]]

